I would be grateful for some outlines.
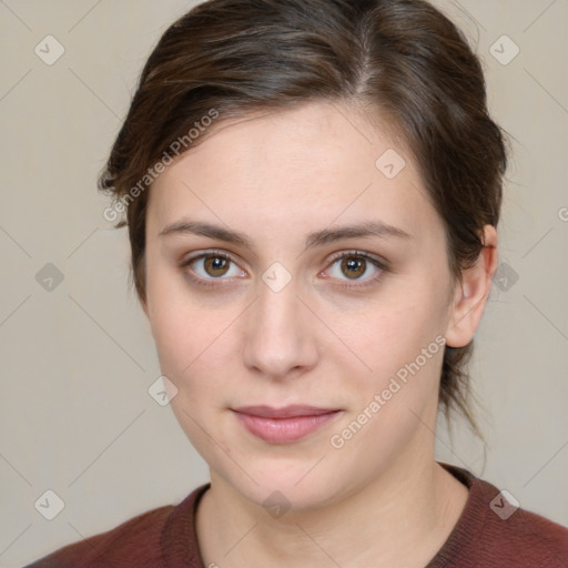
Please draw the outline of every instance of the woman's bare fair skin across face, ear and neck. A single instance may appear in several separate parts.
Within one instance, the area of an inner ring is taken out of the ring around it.
[[[387,149],[406,161],[392,180],[375,166]],[[160,236],[181,220],[240,231],[254,251]],[[410,236],[305,246],[308,233],[372,220]],[[162,373],[178,388],[173,412],[210,466],[197,509],[205,566],[423,568],[435,556],[468,496],[434,460],[443,348],[343,447],[329,440],[435,337],[470,342],[497,264],[495,229],[486,225],[483,239],[478,263],[453,285],[444,225],[412,156],[336,103],[217,124],[154,182],[143,307]],[[203,260],[181,266],[202,252],[214,258],[211,251],[232,257],[225,273]],[[389,268],[367,262],[353,280],[332,258],[353,251]],[[262,280],[274,262],[292,276],[278,292]],[[271,444],[231,410],[256,404],[342,412],[296,443]],[[277,518],[263,507],[275,490],[291,506]]]

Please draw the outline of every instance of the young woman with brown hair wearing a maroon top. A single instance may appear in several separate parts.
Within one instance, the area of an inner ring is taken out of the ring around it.
[[[438,464],[497,265],[504,136],[423,0],[212,0],[142,72],[100,186],[211,484],[33,567],[568,566]],[[120,225],[120,224],[119,224]]]

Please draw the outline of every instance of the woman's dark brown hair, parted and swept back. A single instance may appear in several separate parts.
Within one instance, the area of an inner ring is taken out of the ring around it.
[[[444,222],[454,282],[476,262],[483,226],[499,219],[507,156],[488,115],[480,62],[450,20],[424,0],[211,0],[160,39],[99,180],[126,211],[142,302],[144,190],[172,144],[182,141],[185,151],[203,142],[215,128],[202,128],[205,116],[315,100],[389,118]],[[473,341],[445,347],[439,403],[446,417],[457,408],[479,433],[465,369],[471,351]]]

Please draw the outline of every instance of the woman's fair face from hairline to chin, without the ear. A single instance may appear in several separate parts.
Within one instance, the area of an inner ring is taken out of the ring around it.
[[[144,308],[212,476],[317,507],[430,448],[444,226],[410,155],[353,108],[216,128],[151,189]]]

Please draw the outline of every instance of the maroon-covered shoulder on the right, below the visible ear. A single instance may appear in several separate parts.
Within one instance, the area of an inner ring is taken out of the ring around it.
[[[444,467],[468,486],[469,499],[439,566],[568,567],[568,528],[519,507],[511,494],[465,469]],[[457,558],[474,564],[452,564]]]

